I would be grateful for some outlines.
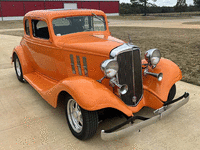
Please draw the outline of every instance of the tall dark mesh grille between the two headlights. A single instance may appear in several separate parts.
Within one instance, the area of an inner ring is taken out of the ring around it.
[[[118,81],[119,84],[127,84],[128,92],[121,95],[121,99],[127,105],[137,105],[143,94],[142,68],[139,49],[124,51],[117,55],[119,64]],[[136,101],[133,101],[133,97]]]

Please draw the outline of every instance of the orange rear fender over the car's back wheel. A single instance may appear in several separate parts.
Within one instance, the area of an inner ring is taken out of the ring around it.
[[[33,72],[33,68],[31,67],[30,62],[27,60],[27,57],[25,56],[25,52],[21,45],[18,45],[13,49],[12,62],[14,61],[14,53],[16,53],[19,58],[23,75]]]

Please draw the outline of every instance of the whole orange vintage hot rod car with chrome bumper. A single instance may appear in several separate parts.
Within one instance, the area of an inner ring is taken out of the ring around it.
[[[127,118],[101,131],[109,140],[150,125],[189,100],[187,92],[173,99],[182,78],[178,66],[161,58],[158,49],[141,60],[137,46],[111,36],[100,10],[31,11],[23,23],[24,36],[12,54],[17,78],[54,108],[65,99],[67,122],[78,139],[95,134],[99,111],[117,110]],[[134,115],[144,106],[155,109],[155,116]],[[133,124],[136,119],[141,122]]]

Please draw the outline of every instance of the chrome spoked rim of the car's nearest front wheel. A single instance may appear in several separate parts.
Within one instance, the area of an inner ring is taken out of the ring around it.
[[[83,117],[81,109],[74,99],[69,99],[67,103],[67,116],[73,130],[80,133],[83,129]]]

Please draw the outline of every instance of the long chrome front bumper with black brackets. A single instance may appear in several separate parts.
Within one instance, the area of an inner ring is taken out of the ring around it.
[[[110,130],[102,130],[101,131],[101,138],[102,140],[114,140],[117,138],[121,138],[121,137],[125,137],[128,134],[131,134],[134,131],[138,131],[148,125],[151,125],[153,123],[156,123],[157,121],[161,120],[162,118],[164,118],[165,116],[169,115],[170,113],[172,113],[173,111],[177,110],[178,108],[180,108],[181,106],[185,105],[187,102],[189,101],[189,93],[185,93],[183,96],[172,100],[171,102],[166,102],[164,103],[163,107],[157,109],[154,111],[155,114],[157,114],[156,116],[152,117],[152,118],[145,118],[145,117],[140,117],[140,116],[133,116],[132,118],[129,118],[129,121],[127,120],[126,122],[110,129]],[[175,103],[174,105],[172,105],[171,107],[167,107],[168,105]],[[140,119],[140,120],[144,120],[140,123],[137,124],[133,124],[125,129],[119,130],[119,131],[115,131],[118,128],[126,125],[129,122],[133,122],[135,119]],[[115,131],[115,132],[112,132]]]

